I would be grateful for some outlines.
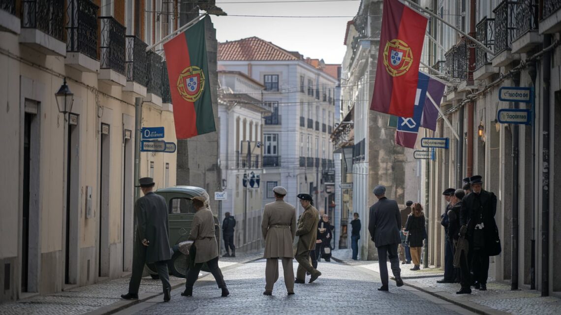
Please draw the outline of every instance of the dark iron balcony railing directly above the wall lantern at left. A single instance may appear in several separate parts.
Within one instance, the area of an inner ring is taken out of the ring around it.
[[[67,0],[66,51],[98,58],[98,10],[90,0]]]

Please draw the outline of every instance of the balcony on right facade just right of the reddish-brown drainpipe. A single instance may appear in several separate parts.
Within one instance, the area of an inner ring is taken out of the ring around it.
[[[475,29],[476,39],[493,51],[493,46],[495,44],[495,19],[484,17],[477,23]],[[491,66],[489,55],[479,45],[475,47],[475,69],[475,72],[473,72],[473,79],[475,80],[487,79],[489,76],[498,72],[498,69]]]

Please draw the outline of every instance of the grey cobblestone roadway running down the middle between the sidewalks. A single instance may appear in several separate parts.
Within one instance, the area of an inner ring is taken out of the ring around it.
[[[192,297],[181,296],[180,288],[172,292],[169,303],[154,299],[118,314],[471,314],[411,287],[398,288],[394,282],[389,292],[378,291],[381,284],[376,273],[333,262],[320,263],[323,275],[318,280],[296,284],[296,294],[287,295],[280,268],[272,296],[263,295],[265,260],[260,259],[223,272],[231,292],[228,298],[220,298],[220,289],[207,276],[197,281]]]

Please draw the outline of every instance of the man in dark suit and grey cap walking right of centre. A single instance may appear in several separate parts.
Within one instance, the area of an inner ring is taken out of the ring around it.
[[[384,186],[376,186],[373,192],[376,198],[378,198],[378,202],[370,207],[368,230],[378,249],[378,262],[382,281],[382,286],[378,290],[388,291],[388,258],[392,265],[396,285],[403,285],[397,255],[397,246],[401,243],[401,235],[399,235],[401,230],[401,214],[399,213],[396,200],[385,197]]]

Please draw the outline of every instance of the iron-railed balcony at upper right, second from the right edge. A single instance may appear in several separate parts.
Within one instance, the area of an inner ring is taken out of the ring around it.
[[[514,25],[517,26],[512,53],[525,53],[541,42],[538,30],[539,6],[535,0],[519,0],[514,12]]]

